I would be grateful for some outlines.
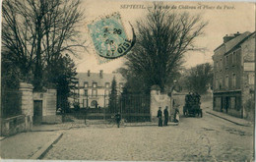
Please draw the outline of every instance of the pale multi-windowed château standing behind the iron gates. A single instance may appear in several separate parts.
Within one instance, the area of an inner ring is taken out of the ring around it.
[[[125,79],[118,73],[78,73],[78,83],[76,84],[77,94],[74,101],[79,102],[81,108],[105,108],[108,107],[109,94],[111,92],[111,82],[115,78],[117,93],[120,94],[124,86]]]

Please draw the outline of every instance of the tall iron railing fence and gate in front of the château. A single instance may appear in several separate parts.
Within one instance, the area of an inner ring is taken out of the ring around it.
[[[109,97],[107,95],[82,96],[81,98],[80,107],[82,108],[72,113],[77,119],[107,120],[119,112],[126,122],[151,120],[150,95],[121,95],[116,99],[116,103],[110,106],[108,106]]]

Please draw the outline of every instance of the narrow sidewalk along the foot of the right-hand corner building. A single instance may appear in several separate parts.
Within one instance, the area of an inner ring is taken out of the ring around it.
[[[232,117],[228,114],[224,114],[222,112],[214,111],[210,108],[206,109],[205,112],[208,113],[208,114],[211,114],[213,116],[222,118],[225,121],[231,122],[235,125],[245,126],[245,127],[253,126],[253,122],[247,121],[245,119],[237,118],[237,117]]]

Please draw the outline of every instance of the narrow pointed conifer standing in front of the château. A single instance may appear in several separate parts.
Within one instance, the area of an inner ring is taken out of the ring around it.
[[[117,89],[116,89],[115,77],[111,82],[111,93],[109,95],[109,109],[111,113],[116,113],[117,111]]]

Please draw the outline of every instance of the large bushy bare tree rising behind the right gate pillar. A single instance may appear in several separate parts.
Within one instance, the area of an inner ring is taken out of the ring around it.
[[[161,91],[168,88],[176,78],[195,39],[203,34],[207,23],[199,15],[171,13],[155,3],[144,20],[137,22],[137,42],[127,55],[126,69],[134,81],[141,81],[146,91],[152,85],[160,85]]]

